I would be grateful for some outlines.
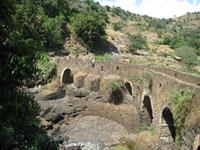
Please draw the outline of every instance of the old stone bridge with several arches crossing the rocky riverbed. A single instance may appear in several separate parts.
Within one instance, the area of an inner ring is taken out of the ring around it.
[[[57,80],[60,84],[73,83],[77,87],[105,95],[109,94],[105,88],[106,83],[123,82],[127,93],[133,98],[116,104],[128,103],[136,106],[139,112],[138,124],[157,126],[160,139],[164,143],[172,143],[176,136],[173,112],[169,107],[172,89],[187,87],[195,93],[193,99],[198,100],[200,97],[199,77],[167,68],[144,65],[59,59]]]

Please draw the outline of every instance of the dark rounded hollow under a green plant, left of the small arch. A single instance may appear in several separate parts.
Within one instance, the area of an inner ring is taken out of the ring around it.
[[[124,100],[124,93],[123,90],[120,88],[117,88],[113,91],[111,91],[109,102],[114,103],[115,105],[120,105],[123,103]]]

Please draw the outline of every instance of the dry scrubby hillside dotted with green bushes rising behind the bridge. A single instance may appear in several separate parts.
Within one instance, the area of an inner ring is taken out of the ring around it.
[[[76,34],[75,24],[70,22],[70,36],[64,47],[72,57],[91,59],[101,55],[96,58],[161,65],[190,73],[200,71],[200,12],[171,19],[158,19],[130,13],[120,7],[103,7],[93,1],[73,4],[72,8],[77,14],[93,7],[87,13],[103,16],[106,34],[100,43],[94,42],[95,47],[88,48],[88,44]],[[87,32],[87,29],[85,31]],[[105,54],[106,56],[102,56]]]

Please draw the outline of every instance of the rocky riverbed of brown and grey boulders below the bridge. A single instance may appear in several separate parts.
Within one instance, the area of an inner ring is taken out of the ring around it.
[[[138,126],[134,105],[114,105],[109,103],[109,95],[73,84],[60,86],[53,82],[29,89],[29,93],[41,107],[41,127],[60,150],[112,150],[119,144],[153,150],[159,145],[156,133]],[[134,101],[126,92],[124,95]]]

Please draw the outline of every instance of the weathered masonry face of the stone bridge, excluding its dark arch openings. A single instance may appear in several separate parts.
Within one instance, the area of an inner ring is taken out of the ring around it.
[[[142,108],[142,103],[145,95],[151,99],[153,111],[153,124],[160,126],[161,114],[164,107],[169,105],[170,92],[175,86],[187,87],[191,89],[196,97],[200,97],[200,78],[190,76],[188,74],[176,72],[170,69],[147,67],[140,65],[130,65],[124,63],[112,62],[95,62],[93,65],[91,61],[83,61],[77,59],[60,59],[57,67],[57,80],[61,81],[62,72],[65,68],[70,68],[74,74],[83,73],[87,75],[96,75],[106,77],[109,75],[119,76],[123,81],[129,81],[135,88],[135,83],[130,81],[131,76],[143,77],[149,76],[143,81],[143,84],[138,89],[135,97],[135,105]],[[100,79],[101,80],[101,79]],[[100,85],[101,86],[101,85]],[[102,88],[99,89],[99,92]],[[191,143],[191,142],[190,142]]]

